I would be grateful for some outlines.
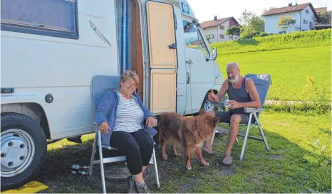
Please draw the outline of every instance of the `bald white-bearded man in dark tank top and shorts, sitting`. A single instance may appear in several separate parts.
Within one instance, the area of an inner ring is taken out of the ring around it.
[[[212,112],[212,114],[219,116],[219,122],[230,124],[227,149],[224,153],[222,163],[224,163],[224,165],[231,165],[231,151],[234,141],[237,138],[237,134],[239,133],[239,124],[247,124],[249,122],[249,114],[244,113],[244,108],[260,108],[261,101],[254,82],[251,79],[240,75],[238,63],[227,64],[227,77],[228,79],[224,81],[222,89],[217,95],[214,95],[213,93],[209,94],[209,100],[211,102],[220,102],[222,97],[224,97],[226,93],[228,94],[230,104],[229,112]],[[253,120],[251,119],[251,121]],[[203,150],[208,153],[213,153],[211,139],[207,141],[203,147]]]

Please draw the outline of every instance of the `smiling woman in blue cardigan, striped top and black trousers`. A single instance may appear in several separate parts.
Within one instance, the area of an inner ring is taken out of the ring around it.
[[[106,93],[96,114],[103,143],[110,142],[110,146],[127,158],[128,169],[133,175],[130,177],[130,193],[148,193],[143,171],[154,146],[152,137],[143,129],[143,122],[155,126],[155,117],[134,93],[139,82],[135,72],[126,70],[120,77],[120,88]]]

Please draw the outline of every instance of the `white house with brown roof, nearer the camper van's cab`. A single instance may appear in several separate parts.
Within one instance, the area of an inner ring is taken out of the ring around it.
[[[209,43],[239,40],[239,34],[233,36],[226,35],[227,28],[230,26],[237,26],[237,24],[238,22],[234,17],[218,19],[217,16],[214,16],[214,20],[200,23],[202,28],[204,28]]]

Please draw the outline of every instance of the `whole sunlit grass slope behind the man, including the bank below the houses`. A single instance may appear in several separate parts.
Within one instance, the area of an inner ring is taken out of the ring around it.
[[[227,77],[226,64],[238,62],[242,75],[270,74],[268,99],[314,101],[317,95],[331,100],[331,29],[274,35],[225,43],[218,48],[217,63]],[[303,92],[307,78],[313,86]],[[314,90],[317,87],[317,90]]]

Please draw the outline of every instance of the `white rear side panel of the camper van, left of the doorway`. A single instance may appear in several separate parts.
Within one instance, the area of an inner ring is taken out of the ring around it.
[[[95,130],[90,81],[94,75],[118,75],[114,1],[78,1],[79,38],[1,31],[2,104],[33,102],[43,108],[51,139]],[[111,45],[93,31],[90,21]],[[53,102],[47,103],[47,94]],[[9,107],[8,109],[6,107]],[[1,112],[11,112],[4,106]]]

